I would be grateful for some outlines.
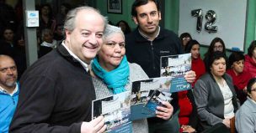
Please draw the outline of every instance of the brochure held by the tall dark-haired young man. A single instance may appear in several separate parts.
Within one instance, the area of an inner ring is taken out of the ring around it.
[[[191,70],[191,54],[162,56],[160,59],[161,76],[173,77],[170,92],[190,90],[191,84],[184,79],[186,72]]]

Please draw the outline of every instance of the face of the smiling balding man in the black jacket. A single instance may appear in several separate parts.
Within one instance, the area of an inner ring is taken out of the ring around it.
[[[79,59],[89,64],[103,43],[104,19],[90,10],[79,11],[75,19],[74,30],[66,30],[65,44]]]

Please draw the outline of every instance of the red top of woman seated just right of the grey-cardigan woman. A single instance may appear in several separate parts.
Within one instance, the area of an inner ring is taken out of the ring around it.
[[[237,87],[238,90],[243,90],[247,86],[249,79],[253,76],[247,71],[242,72],[242,74],[236,75],[233,69],[228,69],[227,74],[232,76],[233,84]]]

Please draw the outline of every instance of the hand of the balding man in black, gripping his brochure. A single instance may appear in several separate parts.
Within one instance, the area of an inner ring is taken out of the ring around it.
[[[99,116],[90,122],[83,122],[81,125],[81,133],[101,133],[106,130],[107,125],[104,125],[104,117]]]

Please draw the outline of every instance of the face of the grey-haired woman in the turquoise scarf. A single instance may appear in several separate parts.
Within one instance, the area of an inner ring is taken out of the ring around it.
[[[115,69],[125,55],[125,38],[122,33],[113,33],[104,40],[99,51],[99,64],[106,70]]]

